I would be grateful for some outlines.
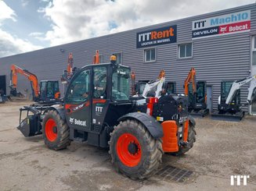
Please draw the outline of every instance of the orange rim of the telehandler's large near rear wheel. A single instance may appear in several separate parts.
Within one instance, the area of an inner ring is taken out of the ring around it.
[[[135,167],[142,158],[139,140],[130,133],[124,133],[117,140],[117,156],[128,167]]]

